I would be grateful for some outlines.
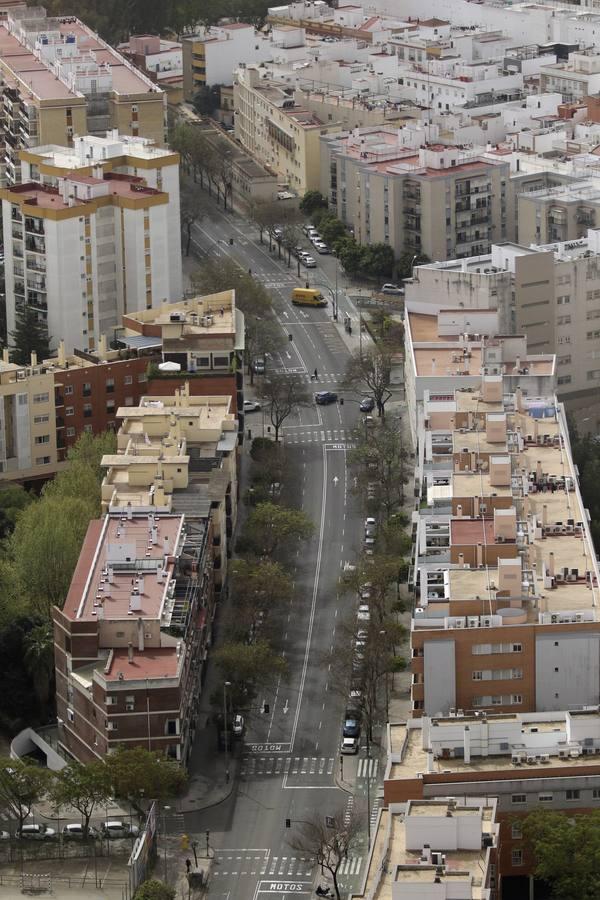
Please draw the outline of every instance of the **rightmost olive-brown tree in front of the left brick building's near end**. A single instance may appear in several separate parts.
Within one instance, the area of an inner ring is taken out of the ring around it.
[[[118,747],[105,765],[115,797],[128,800],[140,816],[145,801],[173,797],[187,780],[187,772],[174,760],[145,747]]]

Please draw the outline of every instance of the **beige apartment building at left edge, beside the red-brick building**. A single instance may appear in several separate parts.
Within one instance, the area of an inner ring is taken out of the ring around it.
[[[0,483],[35,481],[58,463],[54,378],[35,356],[31,366],[0,362]]]

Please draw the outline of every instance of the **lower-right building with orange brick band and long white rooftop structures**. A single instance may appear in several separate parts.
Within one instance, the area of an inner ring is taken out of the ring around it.
[[[526,895],[534,860],[522,819],[539,809],[574,815],[598,808],[599,721],[593,707],[480,715],[456,710],[390,725],[385,807],[444,803],[448,796],[458,805],[494,798],[497,888],[503,896],[512,896],[511,889]]]

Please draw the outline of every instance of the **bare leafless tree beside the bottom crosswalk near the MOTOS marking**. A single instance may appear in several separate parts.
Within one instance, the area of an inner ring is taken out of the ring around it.
[[[361,823],[357,813],[347,816],[346,810],[333,810],[332,814],[315,811],[298,823],[297,829],[288,840],[292,850],[296,850],[329,872],[333,890],[340,900],[339,871],[348,854],[357,846]]]

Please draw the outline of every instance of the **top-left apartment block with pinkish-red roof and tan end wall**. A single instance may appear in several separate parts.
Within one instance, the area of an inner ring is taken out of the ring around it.
[[[43,7],[9,11],[0,24],[4,177],[21,180],[19,151],[69,146],[76,134],[165,141],[163,91],[75,16]]]

